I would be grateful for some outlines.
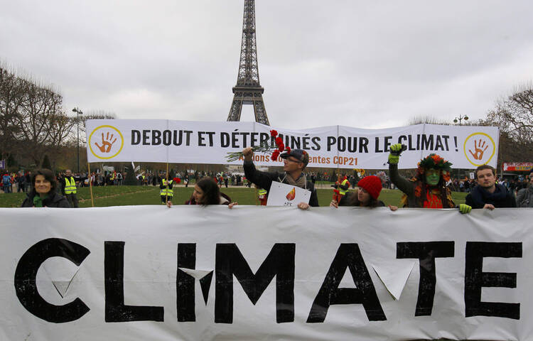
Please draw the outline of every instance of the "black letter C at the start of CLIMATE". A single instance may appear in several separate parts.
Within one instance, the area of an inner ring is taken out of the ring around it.
[[[77,320],[90,309],[80,298],[65,305],[53,305],[44,300],[37,290],[37,271],[46,259],[63,257],[80,266],[90,254],[89,249],[67,239],[41,240],[26,251],[15,270],[15,291],[18,301],[33,315],[52,323]]]

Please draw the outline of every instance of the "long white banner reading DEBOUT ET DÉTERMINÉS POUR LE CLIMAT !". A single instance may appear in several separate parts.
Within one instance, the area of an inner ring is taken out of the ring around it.
[[[169,162],[225,164],[227,153],[269,141],[275,127],[255,122],[168,120],[88,120],[89,162]],[[430,153],[454,168],[496,166],[498,129],[493,126],[439,126],[419,124],[390,129],[323,126],[305,130],[276,129],[285,146],[308,151],[309,167],[387,168],[389,146],[407,146],[399,168],[416,168]],[[282,166],[269,153],[256,153],[259,166]],[[242,164],[234,161],[232,164]]]

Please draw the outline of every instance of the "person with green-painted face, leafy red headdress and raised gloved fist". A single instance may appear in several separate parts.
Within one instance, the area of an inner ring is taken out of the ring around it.
[[[389,175],[392,183],[404,193],[403,207],[454,208],[451,190],[446,186],[450,180],[451,163],[437,154],[429,154],[418,163],[416,175],[411,180],[402,178],[398,173],[398,161],[402,145],[390,146]],[[459,211],[468,213],[472,207],[461,204]]]

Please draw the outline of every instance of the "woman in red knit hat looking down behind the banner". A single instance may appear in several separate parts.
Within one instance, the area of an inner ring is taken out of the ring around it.
[[[384,207],[385,204],[381,200],[378,200],[379,193],[382,189],[381,179],[375,175],[370,175],[359,180],[357,183],[357,194],[348,193],[344,195],[340,202],[331,200],[331,207],[339,206],[361,206],[361,207]],[[392,211],[398,209],[397,206],[389,205]]]

